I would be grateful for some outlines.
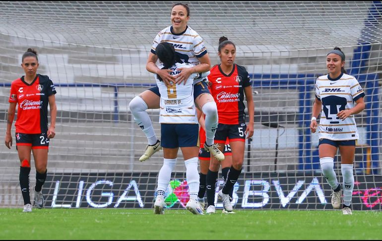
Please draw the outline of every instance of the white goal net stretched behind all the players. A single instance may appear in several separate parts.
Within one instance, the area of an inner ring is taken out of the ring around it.
[[[48,75],[58,92],[57,135],[50,142],[43,188],[47,207],[152,208],[163,152],[138,161],[147,140],[128,103],[155,84],[145,65],[154,37],[171,24],[172,3],[0,2],[2,133],[10,83],[24,75],[21,56],[29,47],[38,51],[38,73]],[[345,69],[366,94],[366,109],[356,115],[353,208],[380,210],[381,2],[185,3],[189,26],[203,38],[212,65],[219,63],[218,41],[224,35],[236,44],[236,63],[253,82],[255,134],[246,141],[234,208],[331,209],[318,134],[311,134],[309,125],[315,80],[327,74],[326,53],[338,46],[346,55]],[[158,110],[148,113],[160,137]],[[0,160],[0,206],[19,207],[15,145],[10,151],[2,145]],[[342,182],[338,157],[335,169]],[[189,198],[185,170],[179,152],[166,193],[169,208],[182,208]],[[33,167],[30,180],[32,190]]]

